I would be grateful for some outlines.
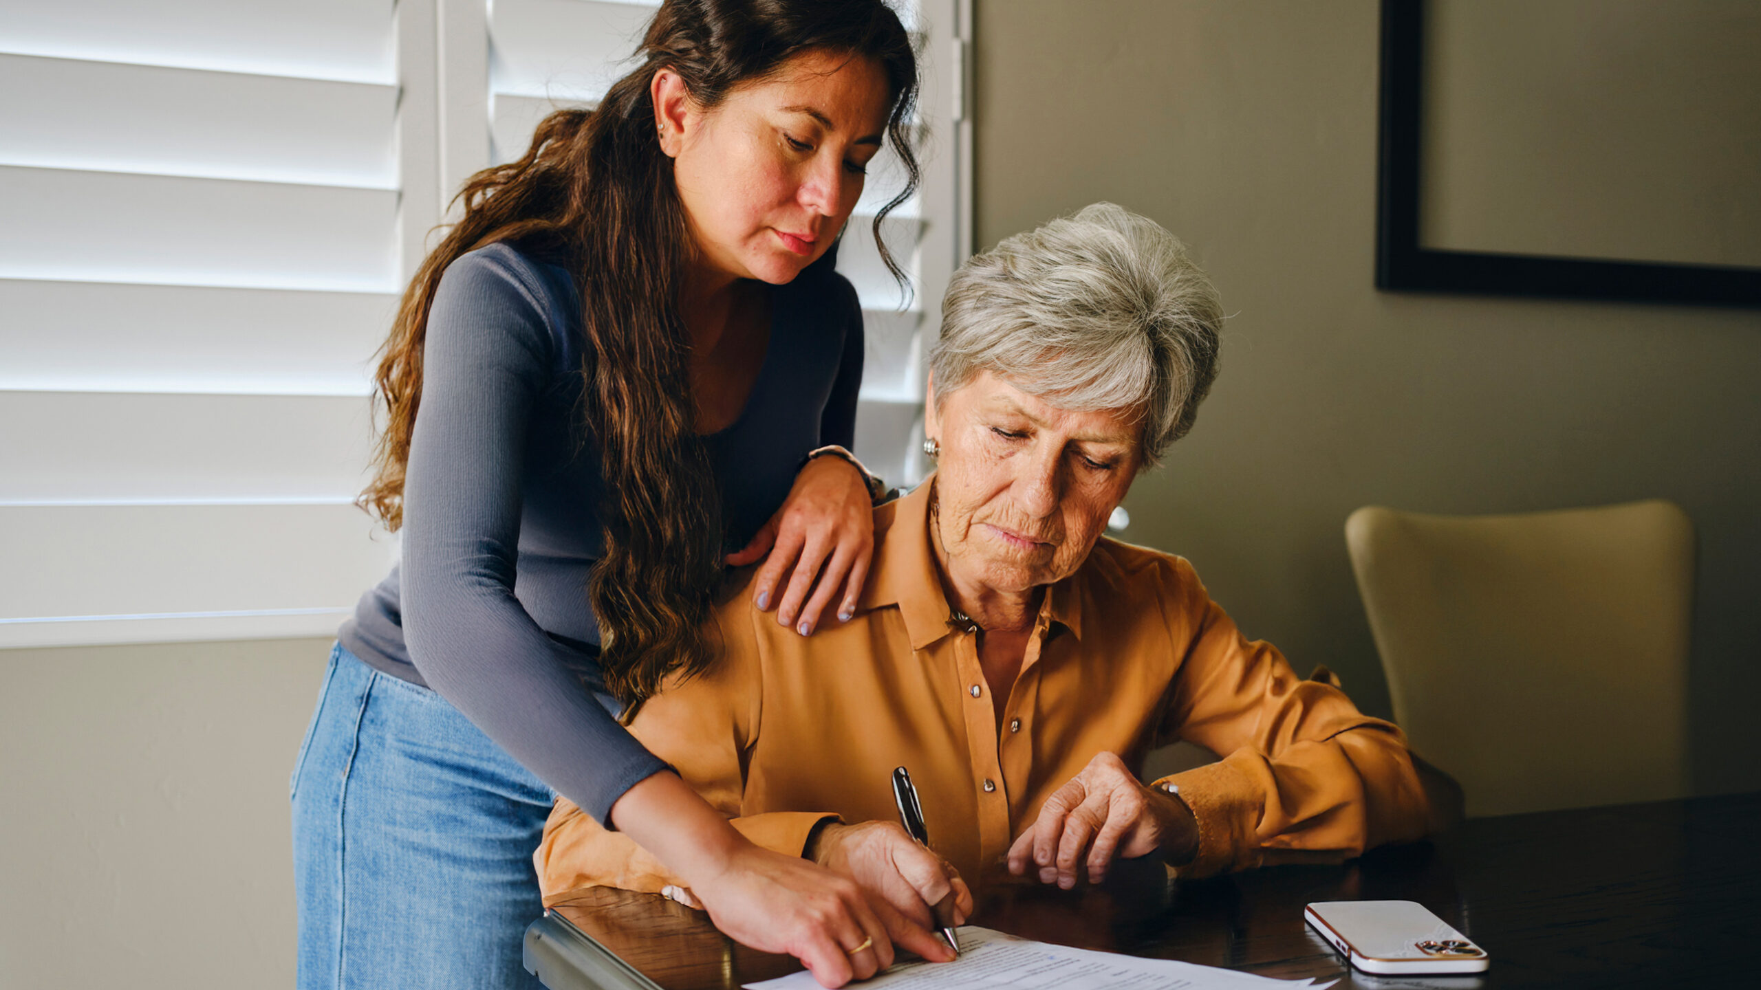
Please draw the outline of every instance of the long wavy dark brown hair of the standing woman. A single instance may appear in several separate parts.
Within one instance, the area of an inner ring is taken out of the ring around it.
[[[497,241],[565,259],[581,294],[583,409],[604,477],[604,555],[586,595],[606,687],[629,703],[715,657],[704,624],[722,576],[724,528],[694,428],[690,336],[678,308],[694,247],[673,160],[655,137],[650,81],[671,69],[699,106],[715,107],[810,51],[873,58],[886,72],[888,139],[907,181],[875,217],[875,243],[902,277],[880,240],[882,217],[919,178],[910,141],[917,62],[898,16],[880,0],[667,0],[636,51],[641,65],[595,109],[549,115],[525,157],[470,176],[454,201],[463,217],[416,271],[380,349],[375,384],[386,419],[359,504],[396,530],[442,273]]]

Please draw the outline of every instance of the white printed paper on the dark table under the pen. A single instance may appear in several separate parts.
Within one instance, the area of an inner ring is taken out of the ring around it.
[[[907,962],[877,974],[868,990],[1298,990],[1314,979],[1268,979],[1233,969],[1192,965],[1166,958],[1138,958],[1092,949],[1072,949],[1050,942],[1030,942],[977,925],[960,935],[954,962]],[[747,983],[748,990],[819,990],[814,974],[801,971],[764,983]]]

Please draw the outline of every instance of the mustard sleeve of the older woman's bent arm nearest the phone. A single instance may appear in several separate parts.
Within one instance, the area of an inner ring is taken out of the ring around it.
[[[1222,754],[1164,779],[1199,823],[1197,858],[1180,875],[1340,861],[1425,835],[1425,791],[1393,722],[1247,639],[1183,560],[1160,580],[1169,631],[1185,646],[1160,736]]]

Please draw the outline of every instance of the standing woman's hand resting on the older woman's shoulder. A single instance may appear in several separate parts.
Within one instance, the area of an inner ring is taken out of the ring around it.
[[[727,564],[743,567],[770,553],[752,585],[754,601],[759,611],[775,606],[778,624],[808,636],[835,599],[838,622],[856,613],[873,548],[868,479],[844,458],[819,456],[801,467],[782,509]]]

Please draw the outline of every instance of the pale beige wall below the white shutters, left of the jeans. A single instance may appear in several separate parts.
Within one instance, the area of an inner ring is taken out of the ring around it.
[[[285,988],[328,639],[0,650],[0,986]]]

